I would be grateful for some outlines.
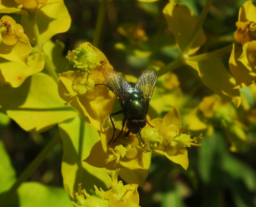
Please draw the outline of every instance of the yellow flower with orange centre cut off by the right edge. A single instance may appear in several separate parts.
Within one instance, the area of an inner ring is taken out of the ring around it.
[[[241,6],[236,26],[236,42],[229,59],[229,68],[236,80],[235,89],[249,86],[256,80],[256,7],[251,1]]]

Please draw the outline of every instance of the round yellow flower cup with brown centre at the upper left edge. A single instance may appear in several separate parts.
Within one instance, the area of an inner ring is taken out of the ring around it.
[[[5,45],[15,45],[23,35],[24,29],[9,16],[3,16],[0,22],[0,41]]]

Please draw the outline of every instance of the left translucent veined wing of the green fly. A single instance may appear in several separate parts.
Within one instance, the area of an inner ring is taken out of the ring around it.
[[[117,71],[110,68],[104,68],[102,74],[123,108],[126,102],[127,91],[131,89],[130,84]]]

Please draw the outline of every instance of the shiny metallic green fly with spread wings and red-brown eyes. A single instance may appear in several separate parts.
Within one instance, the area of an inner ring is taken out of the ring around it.
[[[125,122],[126,127],[128,128],[128,131],[125,133],[125,137],[128,137],[130,132],[132,134],[139,133],[140,139],[142,140],[140,131],[147,125],[147,123],[149,124],[146,116],[148,112],[149,101],[152,97],[157,82],[156,69],[148,68],[145,70],[138,78],[136,83],[127,82],[125,78],[121,76],[117,71],[111,70],[110,68],[104,68],[102,73],[109,86],[103,83],[96,84],[95,86],[107,86],[115,94],[121,105],[120,111],[110,114],[109,116],[114,129],[114,133],[108,144],[112,142],[116,132],[112,116],[121,113],[124,115],[122,129],[114,141],[116,141],[122,134]]]

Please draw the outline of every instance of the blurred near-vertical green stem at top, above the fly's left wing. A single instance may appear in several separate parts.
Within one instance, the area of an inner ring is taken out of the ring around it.
[[[96,23],[96,28],[95,28],[95,32],[94,32],[94,37],[92,40],[92,45],[95,47],[99,46],[100,34],[102,31],[104,18],[105,18],[105,14],[107,11],[107,5],[109,2],[110,2],[109,0],[99,0],[99,12],[98,12],[98,17],[97,17],[97,23]]]

